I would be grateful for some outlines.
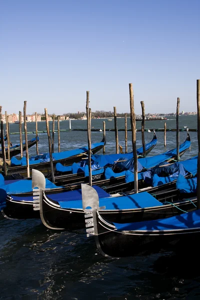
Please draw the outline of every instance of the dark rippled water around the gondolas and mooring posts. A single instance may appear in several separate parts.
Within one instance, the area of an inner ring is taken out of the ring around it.
[[[118,128],[124,128],[124,119],[117,119]],[[174,118],[167,127],[175,128]],[[163,128],[164,121],[148,121],[146,128]],[[34,131],[28,123],[28,131]],[[85,128],[86,121],[72,120],[72,128]],[[102,120],[92,120],[94,128],[102,128]],[[106,121],[107,128],[113,128]],[[140,122],[137,122],[139,128]],[[196,128],[195,116],[181,116],[180,127]],[[68,121],[60,122],[67,129]],[[38,123],[45,130],[45,123]],[[10,124],[17,132],[18,125]],[[124,132],[118,132],[124,147]],[[163,146],[163,132],[157,132],[158,142],[151,152],[157,154],[176,145],[175,132],[166,133],[167,147]],[[145,132],[146,142],[153,133]],[[34,134],[28,134],[32,138]],[[137,132],[137,146],[141,146],[141,133]],[[197,133],[190,132],[191,149],[182,159],[197,154]],[[55,151],[57,150],[55,133]],[[180,142],[186,132],[180,132]],[[39,134],[39,152],[48,149],[46,133]],[[61,131],[61,150],[72,149],[86,142],[86,132]],[[92,132],[92,141],[102,138],[101,132]],[[114,152],[114,132],[106,132],[106,153]],[[128,150],[131,135],[128,132]],[[17,134],[11,135],[13,143]],[[30,155],[35,154],[35,147]],[[198,243],[196,244],[196,247]],[[134,245],[132,245],[134,247]],[[81,232],[57,232],[45,228],[39,220],[7,220],[0,217],[0,299],[199,299],[200,275],[198,257],[181,253],[160,252],[148,256],[120,259],[103,258],[93,239]]]

